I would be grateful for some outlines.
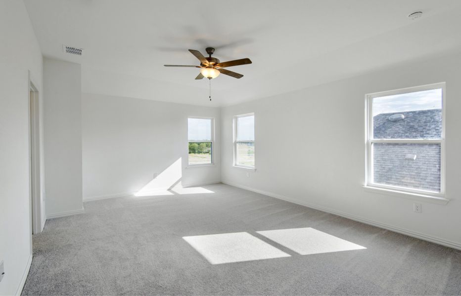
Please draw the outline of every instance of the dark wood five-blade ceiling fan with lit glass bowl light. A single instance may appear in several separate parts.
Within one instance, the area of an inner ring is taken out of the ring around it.
[[[195,79],[202,79],[204,77],[207,77],[208,79],[212,79],[212,78],[218,77],[219,74],[221,73],[232,76],[234,78],[241,78],[243,77],[242,74],[238,74],[238,73],[235,73],[227,69],[223,69],[223,68],[251,64],[251,60],[248,58],[221,63],[217,58],[211,57],[211,55],[215,52],[215,49],[213,47],[207,47],[205,50],[207,54],[209,55],[209,57],[204,57],[198,50],[189,49],[190,53],[193,54],[200,61],[200,66],[188,66],[188,65],[164,65],[164,66],[165,67],[200,68],[200,73],[197,75],[197,77],[195,77]]]

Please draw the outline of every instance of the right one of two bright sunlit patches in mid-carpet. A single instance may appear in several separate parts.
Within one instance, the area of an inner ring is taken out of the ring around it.
[[[301,255],[367,249],[311,227],[256,232]]]

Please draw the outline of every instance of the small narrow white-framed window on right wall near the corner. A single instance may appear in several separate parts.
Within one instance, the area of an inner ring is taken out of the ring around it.
[[[234,117],[234,165],[255,167],[255,115]]]

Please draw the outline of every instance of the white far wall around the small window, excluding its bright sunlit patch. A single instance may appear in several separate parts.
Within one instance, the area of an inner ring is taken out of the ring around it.
[[[214,117],[218,108],[84,93],[82,95],[84,199],[137,192],[178,159],[182,184],[219,182],[216,165],[187,167],[187,117]]]

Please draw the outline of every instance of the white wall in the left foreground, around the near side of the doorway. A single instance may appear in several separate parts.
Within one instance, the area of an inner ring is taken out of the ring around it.
[[[0,295],[13,295],[32,259],[29,71],[42,93],[42,54],[22,1],[0,1],[0,40]]]

